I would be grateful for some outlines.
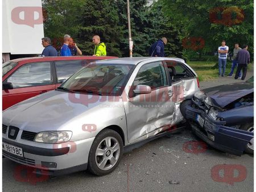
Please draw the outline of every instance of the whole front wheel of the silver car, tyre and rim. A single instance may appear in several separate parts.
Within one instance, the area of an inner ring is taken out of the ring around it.
[[[88,170],[96,176],[113,172],[123,155],[121,136],[108,128],[102,130],[93,141],[88,158]]]

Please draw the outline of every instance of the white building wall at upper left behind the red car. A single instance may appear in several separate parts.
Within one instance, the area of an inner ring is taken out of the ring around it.
[[[2,58],[37,56],[43,51],[43,11],[41,0],[3,0]]]

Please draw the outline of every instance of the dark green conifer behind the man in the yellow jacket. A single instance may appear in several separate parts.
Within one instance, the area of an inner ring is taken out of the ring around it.
[[[106,44],[108,55],[122,56],[119,41],[123,36],[123,26],[118,26],[118,9],[115,0],[86,1],[80,13],[78,36],[85,55],[93,55],[93,35],[99,35]]]

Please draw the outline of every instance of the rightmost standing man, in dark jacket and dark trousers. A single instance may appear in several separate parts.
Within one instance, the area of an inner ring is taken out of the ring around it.
[[[243,49],[237,53],[236,60],[238,61],[237,71],[235,80],[238,78],[238,74],[243,70],[243,75],[241,80],[245,80],[246,72],[247,72],[247,65],[250,62],[250,53],[247,51],[248,45],[243,45]]]

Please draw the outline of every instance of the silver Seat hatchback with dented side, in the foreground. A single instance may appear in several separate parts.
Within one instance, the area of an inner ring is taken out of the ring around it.
[[[3,156],[40,174],[108,174],[124,147],[180,130],[181,112],[198,90],[182,59],[91,62],[56,90],[3,111]]]

